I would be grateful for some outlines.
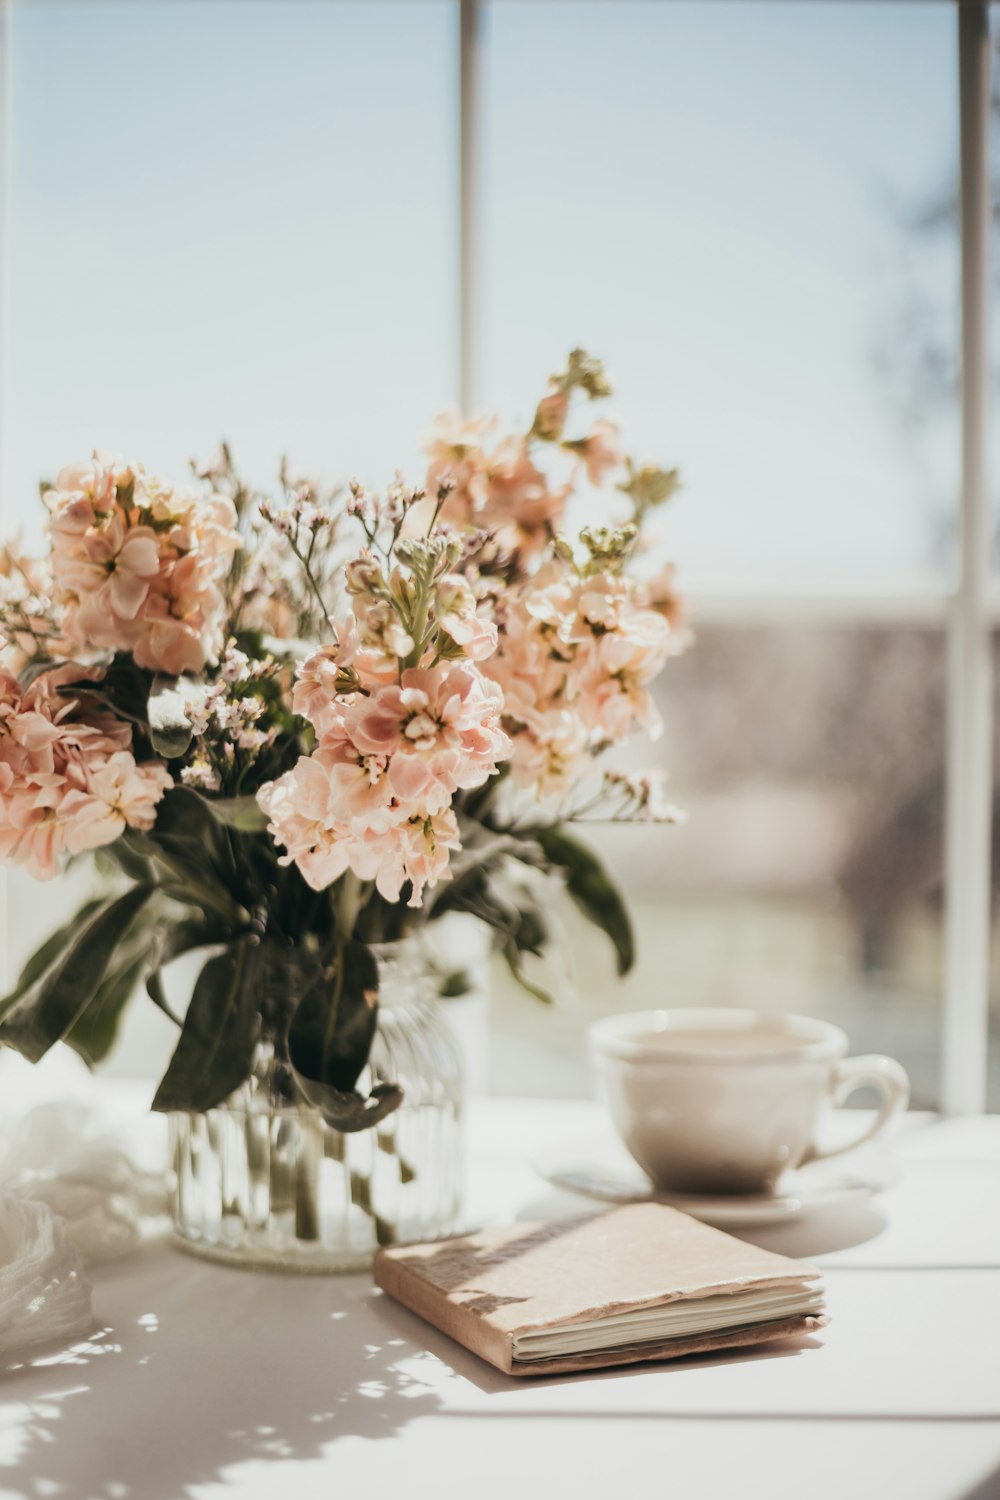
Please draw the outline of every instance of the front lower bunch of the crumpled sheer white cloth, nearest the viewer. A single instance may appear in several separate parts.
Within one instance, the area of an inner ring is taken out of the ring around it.
[[[0,1354],[91,1328],[90,1282],[63,1220],[45,1203],[0,1192]]]

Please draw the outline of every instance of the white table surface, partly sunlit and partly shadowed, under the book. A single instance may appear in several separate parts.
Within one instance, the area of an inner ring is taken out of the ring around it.
[[[471,1215],[579,1212],[531,1161],[600,1125],[586,1102],[472,1101]],[[367,1275],[145,1244],[93,1272],[88,1341],[3,1376],[0,1494],[993,1500],[1000,1118],[910,1116],[894,1149],[883,1197],[753,1232],[825,1270],[831,1324],[807,1347],[586,1377],[501,1376]]]

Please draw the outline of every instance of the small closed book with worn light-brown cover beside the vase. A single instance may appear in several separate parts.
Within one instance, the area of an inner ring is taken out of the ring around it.
[[[381,1250],[375,1282],[511,1376],[676,1359],[826,1322],[814,1268],[664,1203]]]

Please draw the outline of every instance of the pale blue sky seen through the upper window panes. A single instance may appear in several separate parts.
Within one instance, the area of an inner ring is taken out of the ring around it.
[[[898,584],[954,516],[954,404],[879,356],[958,327],[906,220],[957,171],[946,4],[495,0],[480,392],[603,354],[685,489],[691,586]],[[180,472],[418,472],[456,399],[453,0],[13,0],[4,525],[93,447]]]

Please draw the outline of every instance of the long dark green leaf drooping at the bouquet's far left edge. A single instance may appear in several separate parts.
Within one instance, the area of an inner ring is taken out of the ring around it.
[[[72,1028],[94,998],[115,948],[121,944],[153,894],[135,885],[124,896],[103,902],[84,921],[70,924],[69,942],[21,993],[9,998],[0,1041],[37,1062]],[[37,954],[36,954],[37,958]]]

